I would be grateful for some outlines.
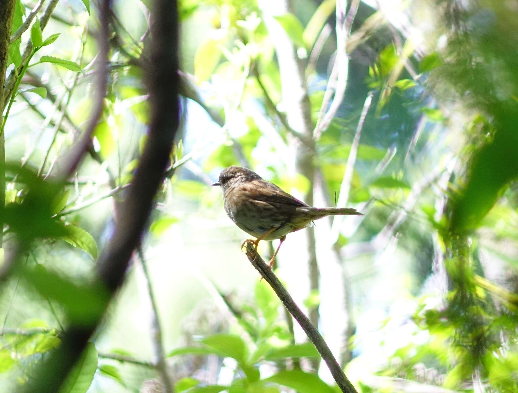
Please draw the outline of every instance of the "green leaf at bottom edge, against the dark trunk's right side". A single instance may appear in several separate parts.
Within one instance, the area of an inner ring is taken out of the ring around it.
[[[97,360],[95,345],[89,342],[77,363],[68,373],[59,393],[85,393],[94,379]]]

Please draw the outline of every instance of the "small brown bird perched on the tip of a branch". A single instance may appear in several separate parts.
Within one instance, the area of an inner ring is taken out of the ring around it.
[[[221,186],[228,217],[244,232],[256,237],[252,240],[256,254],[261,240],[281,240],[270,260],[270,268],[287,234],[306,228],[311,221],[326,216],[363,216],[350,207],[311,207],[263,180],[255,172],[236,165],[225,168],[218,183],[213,186]]]

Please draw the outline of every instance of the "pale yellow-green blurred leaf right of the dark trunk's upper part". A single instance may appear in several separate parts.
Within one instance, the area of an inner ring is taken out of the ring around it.
[[[222,29],[212,32],[194,54],[194,76],[198,83],[207,81],[214,68],[218,65],[221,58],[220,45],[226,38],[226,32]]]

